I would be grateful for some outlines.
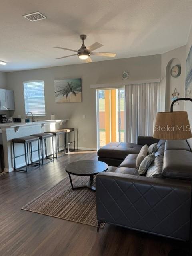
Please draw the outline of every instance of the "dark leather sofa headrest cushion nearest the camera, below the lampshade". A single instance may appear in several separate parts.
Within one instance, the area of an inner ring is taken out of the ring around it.
[[[170,149],[164,152],[163,175],[166,178],[191,180],[192,152]]]

